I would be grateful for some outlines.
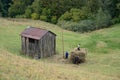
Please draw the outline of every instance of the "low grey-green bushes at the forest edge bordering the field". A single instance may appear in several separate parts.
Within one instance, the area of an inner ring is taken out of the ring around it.
[[[96,29],[94,20],[82,20],[80,22],[59,21],[58,25],[75,32],[88,32]]]

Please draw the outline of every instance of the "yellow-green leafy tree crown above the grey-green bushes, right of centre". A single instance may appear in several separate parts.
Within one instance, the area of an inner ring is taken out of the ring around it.
[[[59,20],[79,22],[80,20],[85,20],[90,17],[89,10],[87,7],[82,7],[81,9],[72,8],[70,11],[66,11]]]

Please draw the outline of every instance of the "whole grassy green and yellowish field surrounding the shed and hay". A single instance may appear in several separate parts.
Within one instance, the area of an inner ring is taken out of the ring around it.
[[[27,27],[57,34],[59,54],[40,60],[20,55],[20,33]],[[62,62],[62,29],[42,21],[0,19],[0,80],[120,80],[120,24],[89,33],[63,30],[65,51],[78,43],[88,50],[86,63]],[[60,60],[59,60],[60,59]]]

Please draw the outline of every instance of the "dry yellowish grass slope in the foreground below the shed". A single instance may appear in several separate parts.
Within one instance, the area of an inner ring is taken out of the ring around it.
[[[109,57],[115,62],[118,55]],[[108,60],[109,64],[94,59],[78,66],[25,59],[0,50],[0,80],[119,80],[119,66]]]

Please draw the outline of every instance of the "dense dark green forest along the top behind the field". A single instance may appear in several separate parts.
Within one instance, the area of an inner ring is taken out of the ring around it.
[[[0,17],[42,20],[88,32],[120,22],[120,0],[0,0]]]

